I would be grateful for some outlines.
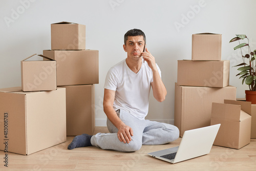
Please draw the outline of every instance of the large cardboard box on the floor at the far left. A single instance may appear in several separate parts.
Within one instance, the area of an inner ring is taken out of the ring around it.
[[[8,152],[29,155],[65,142],[65,99],[64,88],[47,92],[0,89],[0,138],[7,141]],[[6,144],[0,143],[0,149],[5,151]]]

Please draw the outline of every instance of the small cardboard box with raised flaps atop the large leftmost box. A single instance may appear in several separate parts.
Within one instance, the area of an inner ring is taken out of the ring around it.
[[[20,61],[22,90],[24,92],[56,90],[56,61],[43,55],[38,56],[48,61],[27,60],[34,55]]]

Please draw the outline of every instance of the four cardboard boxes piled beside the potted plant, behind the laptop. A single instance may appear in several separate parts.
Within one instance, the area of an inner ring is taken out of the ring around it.
[[[193,34],[192,60],[178,60],[175,125],[184,131],[221,123],[214,145],[250,143],[251,103],[236,101],[229,61],[221,60],[221,34]]]

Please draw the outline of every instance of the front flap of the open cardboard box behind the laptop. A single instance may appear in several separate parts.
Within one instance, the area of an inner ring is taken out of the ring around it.
[[[241,106],[236,104],[212,103],[211,118],[240,121]]]

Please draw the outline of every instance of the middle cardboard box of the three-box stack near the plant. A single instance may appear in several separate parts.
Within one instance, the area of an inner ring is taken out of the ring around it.
[[[223,88],[229,85],[229,60],[178,60],[178,85]]]

